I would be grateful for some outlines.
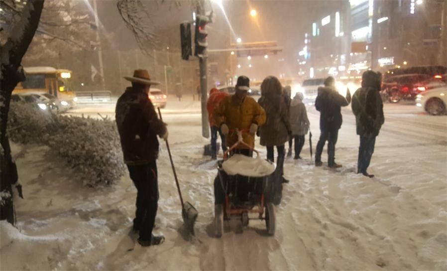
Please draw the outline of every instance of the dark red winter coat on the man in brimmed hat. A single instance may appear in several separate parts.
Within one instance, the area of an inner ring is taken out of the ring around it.
[[[158,158],[157,135],[164,135],[166,126],[144,91],[125,90],[116,102],[115,121],[126,164],[148,164]]]

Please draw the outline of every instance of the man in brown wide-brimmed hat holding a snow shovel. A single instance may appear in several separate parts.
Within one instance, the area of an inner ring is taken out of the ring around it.
[[[147,70],[135,70],[133,77],[124,78],[132,86],[116,102],[115,121],[124,163],[137,190],[133,231],[139,232],[141,246],[159,245],[164,237],[152,234],[158,209],[157,135],[166,140],[168,130],[148,97],[150,86],[159,83],[150,79]]]

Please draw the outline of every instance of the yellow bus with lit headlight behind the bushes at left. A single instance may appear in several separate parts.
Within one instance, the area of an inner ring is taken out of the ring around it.
[[[15,87],[12,94],[48,93],[62,104],[73,107],[77,98],[71,84],[72,71],[53,67],[24,67],[26,80]]]

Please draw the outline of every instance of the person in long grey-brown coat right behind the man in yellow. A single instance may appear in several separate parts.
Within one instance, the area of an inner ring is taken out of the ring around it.
[[[274,161],[273,148],[278,151],[277,167],[280,172],[282,182],[289,182],[284,178],[284,143],[288,141],[291,133],[289,116],[282,86],[278,78],[268,76],[261,84],[261,98],[259,105],[265,110],[267,116],[266,123],[259,128],[260,144],[267,147],[267,159]]]

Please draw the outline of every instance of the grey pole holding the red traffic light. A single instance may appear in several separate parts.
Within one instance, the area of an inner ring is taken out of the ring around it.
[[[197,14],[205,15],[205,0],[200,0],[197,5]],[[197,33],[196,33],[197,34]],[[207,112],[207,50],[205,49],[203,55],[199,56],[199,71],[200,71],[200,90],[201,90],[201,108],[202,108],[202,136],[210,137],[210,124],[208,123]]]

